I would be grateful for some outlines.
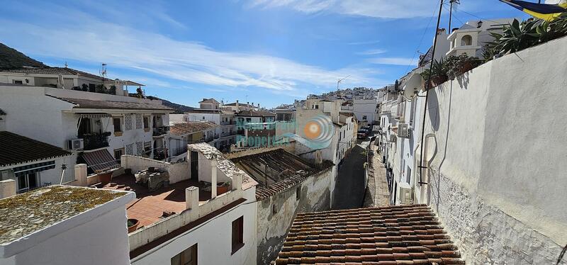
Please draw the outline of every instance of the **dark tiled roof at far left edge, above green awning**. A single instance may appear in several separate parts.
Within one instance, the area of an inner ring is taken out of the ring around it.
[[[64,157],[70,154],[45,142],[0,131],[0,166]]]

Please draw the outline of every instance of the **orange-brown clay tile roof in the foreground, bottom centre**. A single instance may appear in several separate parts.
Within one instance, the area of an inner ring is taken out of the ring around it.
[[[465,264],[427,205],[299,213],[277,264]]]

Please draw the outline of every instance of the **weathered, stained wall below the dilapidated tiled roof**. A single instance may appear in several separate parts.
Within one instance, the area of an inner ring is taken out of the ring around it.
[[[257,264],[276,259],[297,213],[329,210],[331,168],[309,176],[301,184],[257,202]],[[297,188],[300,188],[299,199]],[[275,210],[275,213],[274,213]]]

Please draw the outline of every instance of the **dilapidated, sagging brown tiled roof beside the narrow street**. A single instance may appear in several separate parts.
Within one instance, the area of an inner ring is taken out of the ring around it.
[[[331,166],[330,162],[325,162],[320,169],[317,169],[304,162],[300,157],[281,149],[237,157],[232,159],[232,162],[235,162],[237,167],[246,171],[258,182],[256,186],[257,200],[286,191],[288,188],[305,181],[309,176],[318,174]],[[277,172],[279,175],[267,174],[266,168]]]

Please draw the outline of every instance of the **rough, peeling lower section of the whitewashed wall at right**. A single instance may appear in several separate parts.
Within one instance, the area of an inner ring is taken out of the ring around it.
[[[434,171],[431,207],[467,264],[556,264],[561,246]],[[563,259],[560,264],[567,264]]]

